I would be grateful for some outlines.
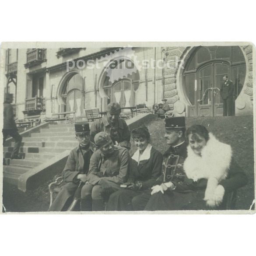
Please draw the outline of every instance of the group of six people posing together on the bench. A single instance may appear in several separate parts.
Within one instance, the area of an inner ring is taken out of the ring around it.
[[[186,130],[185,117],[165,119],[168,150],[151,145],[146,126],[131,131],[118,103],[107,114],[75,124],[79,143],[63,170],[65,185],[49,211],[65,211],[79,193],[81,211],[221,210],[225,198],[247,183],[231,147],[202,125]],[[130,156],[130,136],[137,151]]]

